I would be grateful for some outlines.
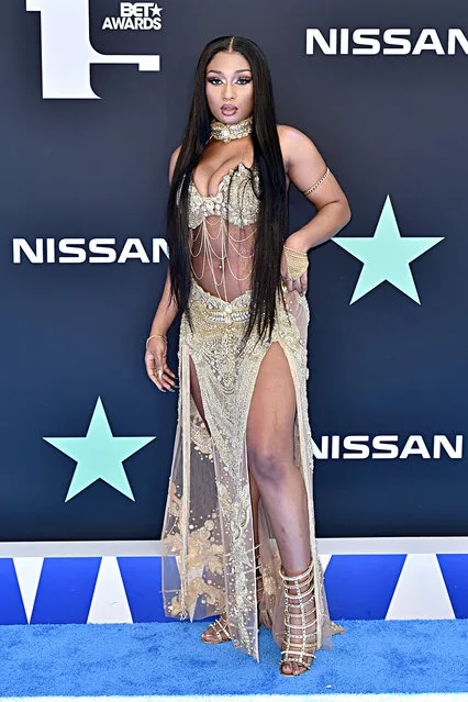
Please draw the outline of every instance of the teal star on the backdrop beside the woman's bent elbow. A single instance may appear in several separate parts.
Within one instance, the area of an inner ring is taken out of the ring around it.
[[[445,237],[402,237],[390,196],[387,196],[374,236],[332,237],[332,242],[364,264],[349,304],[359,300],[385,280],[421,304],[410,263],[442,242],[443,238]]]

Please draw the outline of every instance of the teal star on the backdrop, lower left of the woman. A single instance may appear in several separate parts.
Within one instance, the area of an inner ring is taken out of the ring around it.
[[[98,398],[86,436],[43,438],[78,461],[65,502],[99,478],[135,501],[122,461],[156,436],[113,436],[101,398]]]

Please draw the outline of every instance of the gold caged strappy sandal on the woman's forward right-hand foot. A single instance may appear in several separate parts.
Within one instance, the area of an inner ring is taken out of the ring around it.
[[[282,568],[280,576],[285,590],[285,637],[279,670],[283,676],[297,676],[309,670],[315,658],[316,608],[313,561],[299,576],[286,576]],[[285,672],[287,664],[291,672]]]

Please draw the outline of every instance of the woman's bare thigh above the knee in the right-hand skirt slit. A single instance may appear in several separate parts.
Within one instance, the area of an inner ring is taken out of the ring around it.
[[[247,419],[249,466],[260,473],[293,464],[296,391],[288,359],[271,344],[258,370]]]

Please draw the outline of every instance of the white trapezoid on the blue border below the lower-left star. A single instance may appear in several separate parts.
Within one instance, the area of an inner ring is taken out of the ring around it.
[[[115,556],[103,556],[96,581],[88,624],[131,624],[133,622]]]

